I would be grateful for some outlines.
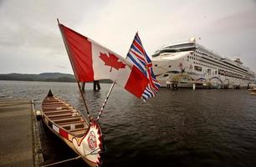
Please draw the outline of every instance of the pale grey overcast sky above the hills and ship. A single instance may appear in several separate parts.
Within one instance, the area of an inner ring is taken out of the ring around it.
[[[195,36],[256,69],[255,0],[0,0],[0,73],[73,73],[56,18],[124,57],[136,31],[149,55]]]

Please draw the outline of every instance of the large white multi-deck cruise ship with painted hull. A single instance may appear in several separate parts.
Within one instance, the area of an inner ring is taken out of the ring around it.
[[[162,87],[194,85],[239,89],[254,82],[255,73],[239,58],[229,59],[203,47],[196,38],[164,46],[152,55],[153,70]],[[168,85],[169,85],[168,84]]]

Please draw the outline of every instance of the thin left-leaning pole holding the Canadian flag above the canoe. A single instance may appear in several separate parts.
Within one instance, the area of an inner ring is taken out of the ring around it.
[[[69,52],[69,45],[68,45],[67,42],[66,42],[66,37],[64,36],[63,29],[62,29],[62,27],[60,26],[59,18],[57,18],[57,21],[58,21],[59,31],[60,31],[61,36],[62,36],[62,39],[63,39],[63,41],[64,41],[65,48],[66,48],[67,53],[68,53],[68,55],[69,55],[69,61],[70,61],[70,63],[71,63],[71,66],[72,66],[72,69],[73,69],[73,72],[74,72],[74,77],[75,77],[76,83],[77,83],[77,85],[78,85],[78,87],[79,87],[79,93],[80,93],[80,95],[81,95],[81,97],[82,97],[82,99],[83,99],[84,107],[85,107],[85,109],[86,109],[87,116],[88,116],[88,118],[90,118],[90,112],[89,112],[88,106],[87,106],[87,104],[86,104],[86,101],[85,101],[85,99],[84,99],[84,94],[82,93],[82,89],[81,89],[81,86],[80,86],[80,84],[79,84],[79,80],[78,80],[77,74],[75,73],[74,64],[73,64],[73,62],[72,62],[72,60],[71,60],[71,57],[70,57],[71,53]]]

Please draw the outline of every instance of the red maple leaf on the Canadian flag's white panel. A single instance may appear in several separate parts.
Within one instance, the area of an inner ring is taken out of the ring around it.
[[[109,53],[109,56],[106,53],[100,53],[100,58],[104,61],[105,65],[110,66],[110,72],[112,68],[119,70],[119,68],[125,68],[125,63],[119,62],[115,54]]]

